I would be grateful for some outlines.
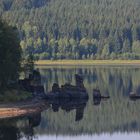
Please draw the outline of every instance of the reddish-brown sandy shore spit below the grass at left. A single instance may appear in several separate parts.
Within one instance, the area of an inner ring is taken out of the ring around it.
[[[36,98],[17,102],[0,104],[0,119],[22,117],[34,113],[42,112],[49,105],[46,100],[37,100]]]

